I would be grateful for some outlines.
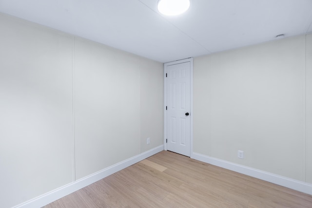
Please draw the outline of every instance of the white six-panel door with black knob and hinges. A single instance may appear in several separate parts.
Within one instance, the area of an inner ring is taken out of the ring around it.
[[[167,63],[165,72],[167,76],[167,150],[190,156],[191,61]]]

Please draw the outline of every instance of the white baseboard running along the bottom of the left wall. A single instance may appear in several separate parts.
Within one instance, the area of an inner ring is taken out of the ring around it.
[[[122,170],[124,168],[127,168],[141,160],[144,160],[160,151],[164,150],[164,145],[160,145],[152,150],[145,151],[141,154],[138,154],[134,157],[131,157],[127,160],[124,160],[120,163],[117,163],[115,165],[112,165],[106,169],[100,170],[96,173],[93,173],[91,175],[88,175],[84,178],[81,178],[73,183],[70,183],[68,185],[65,185],[63,187],[60,187],[59,189],[52,190],[48,193],[45,193],[37,198],[34,198],[32,200],[29,200],[25,203],[22,203],[15,208],[40,208],[47,204],[50,204],[51,202],[54,202],[55,200],[58,200],[70,193],[73,193],[79,189],[82,189],[83,187],[86,187],[94,182],[97,182],[98,180],[101,180],[119,170]]]

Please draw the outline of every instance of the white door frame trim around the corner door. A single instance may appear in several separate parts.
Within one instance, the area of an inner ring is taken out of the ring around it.
[[[166,74],[167,74],[167,66],[179,64],[179,63],[185,63],[190,62],[190,116],[191,116],[191,130],[190,130],[190,157],[193,158],[193,57],[191,58],[185,58],[181,60],[171,61],[164,63],[164,150],[167,151],[167,80],[166,80]]]

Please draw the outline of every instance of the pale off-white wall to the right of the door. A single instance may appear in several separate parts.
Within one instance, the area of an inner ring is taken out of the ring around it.
[[[311,81],[311,34],[195,57],[194,152],[312,183]]]

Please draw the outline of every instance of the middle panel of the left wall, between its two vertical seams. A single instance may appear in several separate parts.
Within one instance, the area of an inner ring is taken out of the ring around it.
[[[134,55],[75,38],[77,179],[140,153],[138,66]]]

